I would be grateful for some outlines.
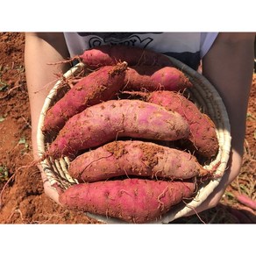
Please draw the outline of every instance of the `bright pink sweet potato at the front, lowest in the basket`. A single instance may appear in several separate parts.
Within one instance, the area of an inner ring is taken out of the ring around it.
[[[193,181],[97,181],[71,186],[60,195],[60,203],[70,210],[141,224],[159,219],[194,190]]]

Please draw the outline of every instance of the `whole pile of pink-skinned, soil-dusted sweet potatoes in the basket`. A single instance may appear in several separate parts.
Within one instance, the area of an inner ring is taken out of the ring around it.
[[[157,219],[210,177],[200,159],[217,154],[215,124],[182,94],[193,82],[167,56],[99,46],[75,57],[88,75],[51,106],[47,149],[70,159],[78,181],[60,203],[128,223]]]

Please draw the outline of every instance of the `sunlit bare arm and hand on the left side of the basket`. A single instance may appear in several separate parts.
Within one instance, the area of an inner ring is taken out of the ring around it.
[[[50,89],[56,82],[57,76],[68,69],[64,65],[48,65],[68,58],[68,48],[62,33],[25,34],[25,74],[30,100],[32,117],[32,149],[35,159],[38,159],[36,132],[40,110]],[[57,194],[53,193],[41,172],[47,196],[58,202]]]

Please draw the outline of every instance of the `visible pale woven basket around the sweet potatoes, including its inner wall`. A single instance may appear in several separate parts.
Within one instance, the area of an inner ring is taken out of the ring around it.
[[[203,201],[208,196],[210,196],[214,188],[216,188],[219,184],[219,181],[224,174],[231,150],[231,129],[229,118],[224,107],[224,103],[219,94],[217,93],[217,90],[203,75],[196,72],[194,69],[189,68],[187,65],[174,58],[170,57],[170,60],[172,60],[176,68],[179,68],[183,73],[185,73],[185,75],[188,76],[189,80],[193,82],[194,87],[188,89],[189,98],[192,99],[193,102],[196,103],[196,105],[203,112],[208,114],[208,116],[216,124],[219,148],[216,158],[211,160],[209,164],[204,166],[204,168],[207,169],[216,168],[217,178],[207,181],[207,183],[203,184],[203,186],[198,188],[196,197],[191,202],[187,204],[181,203],[176,205],[172,210],[167,212],[167,214],[162,216],[160,220],[154,222],[160,224],[171,222],[178,217],[186,215],[189,211],[195,209],[197,206],[203,203]],[[82,68],[82,63],[77,64],[74,68],[71,68],[66,74],[63,75],[63,79],[65,80],[72,75],[76,75],[82,70]],[[54,99],[58,95],[60,84],[61,79],[56,82],[53,89],[46,97],[46,101],[40,113],[39,128],[37,134],[39,157],[43,156],[46,152],[47,139],[41,132],[42,126],[44,124],[46,110],[50,107],[50,105],[53,103]],[[47,158],[46,160],[43,160],[41,162],[43,171],[45,172],[46,177],[53,189],[63,190],[68,188],[72,184],[78,183],[68,174],[68,165],[69,160],[67,157],[58,160]],[[85,214],[103,223],[122,223],[121,221],[111,217],[103,217],[90,213]]]

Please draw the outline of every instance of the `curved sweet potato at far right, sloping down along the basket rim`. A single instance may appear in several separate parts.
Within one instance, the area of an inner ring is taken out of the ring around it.
[[[133,92],[126,92],[134,95]],[[159,104],[167,110],[173,110],[181,114],[187,120],[189,125],[189,136],[187,139],[179,140],[180,146],[188,149],[191,153],[201,155],[205,158],[211,158],[218,151],[218,140],[216,125],[210,117],[196,107],[196,104],[188,100],[180,93],[167,90],[153,92],[135,92],[148,103]]]

